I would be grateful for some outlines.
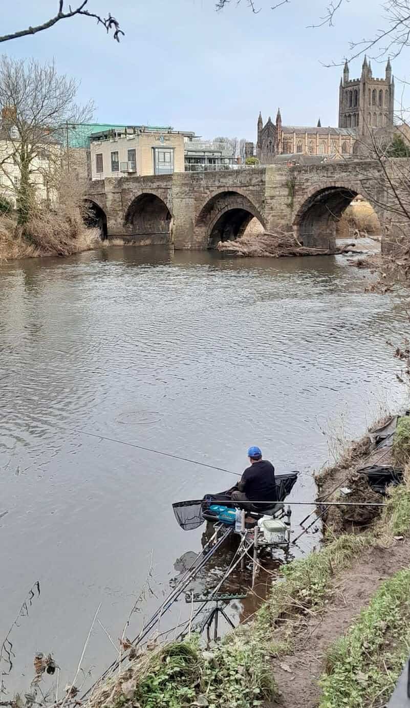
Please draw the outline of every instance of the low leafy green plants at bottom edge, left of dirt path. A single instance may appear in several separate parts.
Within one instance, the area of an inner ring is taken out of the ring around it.
[[[200,649],[198,636],[135,663],[127,685],[133,696],[117,692],[113,708],[253,708],[275,696],[275,683],[261,636],[230,634],[212,651]]]

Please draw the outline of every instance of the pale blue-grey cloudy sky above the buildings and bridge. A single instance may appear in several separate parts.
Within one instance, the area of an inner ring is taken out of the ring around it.
[[[326,0],[292,0],[275,11],[272,1],[255,1],[263,8],[256,15],[246,0],[222,12],[215,0],[89,0],[90,11],[120,20],[120,44],[93,21],[73,18],[1,48],[14,57],[54,57],[60,72],[81,79],[79,98],[93,98],[100,122],[255,139],[259,110],[267,120],[280,106],[284,124],[316,125],[320,115],[322,125],[337,125],[341,68],[321,62],[340,62],[349,40],[383,24],[379,0],[345,2],[334,27],[314,30],[307,25],[323,16]],[[4,5],[2,34],[50,18],[57,0]],[[398,78],[410,78],[409,55],[393,62]],[[351,65],[351,78],[361,64]],[[385,75],[385,62],[372,64],[374,76]]]

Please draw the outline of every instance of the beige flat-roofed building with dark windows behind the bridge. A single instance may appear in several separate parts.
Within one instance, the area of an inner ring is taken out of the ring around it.
[[[91,179],[185,171],[185,144],[195,134],[147,126],[90,136]]]

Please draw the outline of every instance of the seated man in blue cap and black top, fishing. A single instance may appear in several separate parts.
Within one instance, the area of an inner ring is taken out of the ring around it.
[[[246,467],[237,489],[232,491],[232,501],[247,511],[263,512],[268,504],[258,504],[258,501],[271,501],[274,506],[277,500],[275,467],[267,459],[262,459],[262,452],[256,445],[248,450],[250,467]]]

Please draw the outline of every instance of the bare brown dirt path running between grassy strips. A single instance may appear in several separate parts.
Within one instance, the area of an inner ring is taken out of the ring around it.
[[[335,577],[334,596],[326,611],[307,618],[299,628],[296,626],[294,653],[273,659],[273,673],[282,695],[280,702],[270,704],[269,708],[317,706],[320,696],[317,680],[324,670],[327,649],[368,605],[380,583],[408,567],[409,562],[410,539],[406,539],[389,549],[371,549],[360,562]]]

